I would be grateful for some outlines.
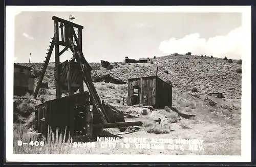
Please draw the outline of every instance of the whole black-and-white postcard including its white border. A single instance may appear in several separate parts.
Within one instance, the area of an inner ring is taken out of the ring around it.
[[[5,58],[7,162],[251,160],[250,6],[7,6]]]

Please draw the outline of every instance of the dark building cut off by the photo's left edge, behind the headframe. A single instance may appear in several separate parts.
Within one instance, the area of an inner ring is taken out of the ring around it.
[[[31,69],[31,67],[22,66],[14,63],[14,95],[22,96],[26,93],[34,93],[35,75],[31,74]]]

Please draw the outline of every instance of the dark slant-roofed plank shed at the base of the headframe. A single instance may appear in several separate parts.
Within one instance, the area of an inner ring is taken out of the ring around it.
[[[52,130],[57,128],[61,132],[75,135],[82,131],[85,126],[85,109],[89,105],[89,93],[81,92],[74,95],[46,101],[36,106],[36,129],[39,133],[47,135],[48,127]],[[63,133],[62,133],[63,134]]]

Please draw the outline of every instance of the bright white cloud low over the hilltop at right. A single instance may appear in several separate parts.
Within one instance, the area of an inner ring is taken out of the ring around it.
[[[162,41],[159,50],[164,53],[185,54],[191,52],[195,55],[213,55],[223,58],[241,59],[243,46],[242,27],[230,31],[225,36],[216,36],[208,40],[200,38],[199,33],[186,35],[181,39],[170,38]]]

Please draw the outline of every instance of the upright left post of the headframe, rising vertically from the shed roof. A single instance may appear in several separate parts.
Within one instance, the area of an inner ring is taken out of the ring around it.
[[[59,76],[59,26],[58,21],[54,21],[54,33],[55,33],[55,87],[56,87],[56,98],[61,98],[60,88],[60,76]]]

